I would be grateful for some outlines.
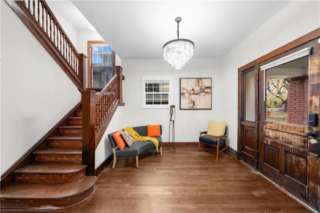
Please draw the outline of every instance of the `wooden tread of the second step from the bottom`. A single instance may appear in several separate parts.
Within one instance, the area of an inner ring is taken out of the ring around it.
[[[79,163],[33,162],[15,170],[14,172],[39,174],[65,174],[79,171],[85,167],[86,165],[81,165]]]

